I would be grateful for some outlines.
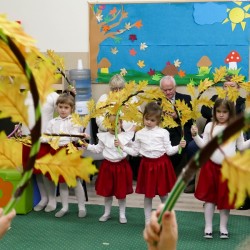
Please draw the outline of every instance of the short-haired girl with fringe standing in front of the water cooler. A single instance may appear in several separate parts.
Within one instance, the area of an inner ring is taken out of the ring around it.
[[[57,112],[59,114],[58,117],[49,121],[46,133],[64,133],[64,134],[83,134],[81,133],[82,128],[72,122],[71,114],[74,111],[75,107],[75,99],[70,94],[61,94],[56,101]],[[60,148],[66,146],[71,141],[77,141],[79,138],[77,137],[60,137],[59,146]],[[51,150],[51,153],[55,153],[55,150]],[[60,180],[59,180],[60,181]],[[55,214],[55,217],[60,218],[63,217],[69,208],[68,204],[68,196],[69,190],[68,186],[65,182],[61,182],[59,184],[59,191],[62,200],[62,209]],[[77,178],[77,185],[74,187],[75,195],[78,201],[78,217],[83,218],[86,216],[86,208],[85,208],[85,196],[81,181]]]

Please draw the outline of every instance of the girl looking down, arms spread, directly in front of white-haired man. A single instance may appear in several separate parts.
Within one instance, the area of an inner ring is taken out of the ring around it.
[[[136,193],[144,194],[145,223],[148,224],[152,210],[152,199],[159,195],[161,202],[165,202],[167,194],[176,181],[176,175],[168,155],[176,154],[180,147],[184,148],[186,141],[173,146],[169,140],[169,132],[159,127],[162,109],[150,102],[145,106],[143,113],[144,128],[135,134],[132,147],[127,147],[116,142],[130,155],[142,156]],[[167,153],[167,155],[166,155]]]

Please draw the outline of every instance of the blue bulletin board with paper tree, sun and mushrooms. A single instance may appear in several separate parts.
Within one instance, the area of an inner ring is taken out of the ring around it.
[[[89,3],[89,25],[95,83],[172,75],[186,85],[220,66],[249,79],[249,2]]]

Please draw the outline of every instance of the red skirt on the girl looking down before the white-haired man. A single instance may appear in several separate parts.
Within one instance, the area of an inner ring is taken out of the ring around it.
[[[176,175],[169,157],[142,157],[135,192],[147,198],[167,195],[176,181]]]

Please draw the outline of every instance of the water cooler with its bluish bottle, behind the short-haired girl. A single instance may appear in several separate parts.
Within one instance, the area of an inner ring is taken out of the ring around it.
[[[90,69],[84,69],[82,60],[79,59],[77,69],[69,71],[69,78],[76,89],[76,113],[86,115],[88,114],[87,102],[92,96]],[[90,123],[85,131],[92,135]]]

